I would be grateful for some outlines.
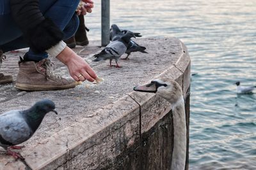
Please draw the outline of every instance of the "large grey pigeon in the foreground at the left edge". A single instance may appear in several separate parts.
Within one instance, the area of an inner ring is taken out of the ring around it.
[[[58,114],[55,104],[44,99],[36,102],[28,110],[12,110],[0,115],[0,146],[6,150],[8,155],[12,155],[15,159],[24,159],[19,153],[10,149],[20,149],[20,143],[31,138],[36,129],[41,124],[44,116],[49,111]]]

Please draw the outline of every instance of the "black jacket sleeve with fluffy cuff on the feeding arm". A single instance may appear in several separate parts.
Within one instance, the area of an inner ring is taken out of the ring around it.
[[[12,17],[29,47],[34,52],[44,52],[63,39],[63,32],[43,16],[38,4],[39,0],[10,0]]]

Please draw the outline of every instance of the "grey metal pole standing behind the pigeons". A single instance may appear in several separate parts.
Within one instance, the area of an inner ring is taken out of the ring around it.
[[[110,0],[101,0],[101,45],[109,43]]]

